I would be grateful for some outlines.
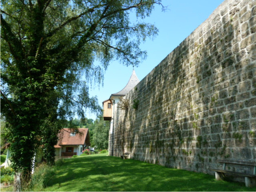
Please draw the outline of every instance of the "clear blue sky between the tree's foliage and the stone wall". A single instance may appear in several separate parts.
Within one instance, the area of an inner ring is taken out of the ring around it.
[[[142,80],[150,73],[170,52],[189,36],[202,22],[224,0],[163,0],[162,4],[168,6],[166,12],[162,12],[160,6],[156,6],[149,18],[145,22],[154,24],[159,32],[152,40],[147,39],[141,44],[141,49],[147,51],[147,58],[143,60],[139,67],[135,67],[135,72]],[[104,75],[104,86],[94,86],[90,88],[90,95],[96,95],[99,104],[109,99],[112,93],[120,91],[129,81],[133,72],[133,67],[125,67],[118,61],[112,61]],[[95,119],[93,113],[87,113],[87,118]]]

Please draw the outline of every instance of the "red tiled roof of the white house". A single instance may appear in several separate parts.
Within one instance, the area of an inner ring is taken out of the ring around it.
[[[79,133],[76,133],[75,136],[71,136],[70,129],[63,128],[58,134],[57,145],[84,145],[88,129],[80,128],[78,131]]]

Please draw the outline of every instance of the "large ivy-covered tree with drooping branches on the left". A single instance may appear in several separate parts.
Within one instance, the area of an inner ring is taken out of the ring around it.
[[[129,17],[134,10],[143,19],[154,5],[161,0],[1,2],[1,113],[11,135],[14,190],[31,172],[38,146],[54,164],[61,119],[74,113],[84,119],[86,109],[100,113],[88,86],[102,82],[110,60],[138,65],[145,58],[140,42],[157,29]],[[101,65],[93,65],[95,59]]]

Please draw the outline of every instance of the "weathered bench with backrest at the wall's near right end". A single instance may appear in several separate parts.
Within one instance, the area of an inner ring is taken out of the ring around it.
[[[248,161],[239,161],[239,160],[218,160],[218,163],[223,164],[222,169],[212,169],[212,171],[215,171],[215,179],[216,180],[223,180],[225,178],[225,174],[230,175],[237,175],[240,177],[244,177],[245,186],[252,187],[256,186],[256,162],[248,162]],[[228,171],[226,170],[227,164],[233,164],[233,165],[240,165],[240,166],[252,166],[253,173],[241,173],[236,171]]]

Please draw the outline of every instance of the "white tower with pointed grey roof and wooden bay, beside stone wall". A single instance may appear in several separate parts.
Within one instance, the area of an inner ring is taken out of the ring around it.
[[[119,92],[113,93],[110,95],[108,100],[105,100],[103,103],[103,118],[104,120],[110,121],[110,131],[109,131],[109,154],[113,155],[113,138],[114,138],[114,118],[118,106],[118,102],[121,97],[125,97],[127,93],[129,93],[140,80],[138,79],[135,71],[133,70],[133,74],[130,77],[130,80],[126,84],[126,86],[120,90]]]

